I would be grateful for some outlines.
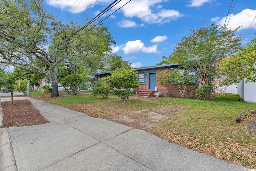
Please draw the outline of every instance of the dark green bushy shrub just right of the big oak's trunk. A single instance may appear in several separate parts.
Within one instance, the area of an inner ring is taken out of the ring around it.
[[[76,95],[78,93],[78,85],[82,82],[79,74],[71,74],[66,76],[63,79],[60,79],[60,84],[65,88],[65,90],[70,93],[70,89],[72,90],[73,94]],[[70,89],[69,89],[69,88]]]

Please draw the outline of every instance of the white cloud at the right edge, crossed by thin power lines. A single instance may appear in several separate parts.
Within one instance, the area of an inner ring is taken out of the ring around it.
[[[228,24],[228,28],[230,29],[236,29],[239,26],[242,26],[240,29],[248,29],[250,25],[252,24],[252,21],[254,20],[256,16],[256,10],[251,9],[245,9],[237,14],[232,14],[231,17],[228,15],[228,19],[230,17],[230,21],[226,21],[226,25]],[[218,20],[216,23],[220,24],[221,26],[224,25],[226,20],[226,17],[223,17],[222,19]],[[254,23],[255,24],[255,20]],[[256,28],[254,28],[256,29]]]

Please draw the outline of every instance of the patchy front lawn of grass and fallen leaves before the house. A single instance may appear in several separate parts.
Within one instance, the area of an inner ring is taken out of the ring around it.
[[[91,94],[50,98],[50,94],[32,91],[31,96],[256,169],[256,134],[252,129],[249,136],[246,127],[246,122],[256,125],[256,114],[249,112],[256,110],[256,104],[239,101],[236,94],[213,96],[210,100],[151,97],[127,102],[117,100],[114,95],[107,100]],[[242,123],[236,123],[241,112],[244,112]]]

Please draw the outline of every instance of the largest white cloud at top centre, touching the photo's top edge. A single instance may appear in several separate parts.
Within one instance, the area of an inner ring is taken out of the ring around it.
[[[116,8],[119,8],[126,2],[127,0],[120,2]],[[124,16],[129,18],[137,17],[147,23],[168,22],[183,16],[183,14],[176,10],[161,9],[162,6],[159,5],[161,2],[165,2],[165,0],[132,0],[121,10]]]

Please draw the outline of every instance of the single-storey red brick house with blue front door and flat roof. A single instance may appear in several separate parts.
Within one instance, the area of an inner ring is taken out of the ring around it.
[[[138,81],[139,87],[134,88],[134,92],[140,96],[154,96],[155,92],[162,92],[162,96],[167,96],[166,92],[164,91],[164,86],[160,85],[158,80],[158,74],[161,71],[168,69],[172,71],[172,69],[179,67],[180,64],[172,63],[172,64],[164,64],[164,65],[155,65],[151,67],[141,67],[141,68],[134,68],[135,71],[138,72]],[[110,75],[112,71],[97,73],[94,74],[96,80],[100,79],[101,77],[106,77]],[[191,90],[198,86],[197,81],[194,81],[191,85],[188,85],[186,90]],[[157,90],[155,90],[157,88]],[[170,94],[172,97],[181,97],[180,91],[178,87],[175,85],[171,85]],[[186,98],[196,98],[194,91],[186,92],[184,94]]]

